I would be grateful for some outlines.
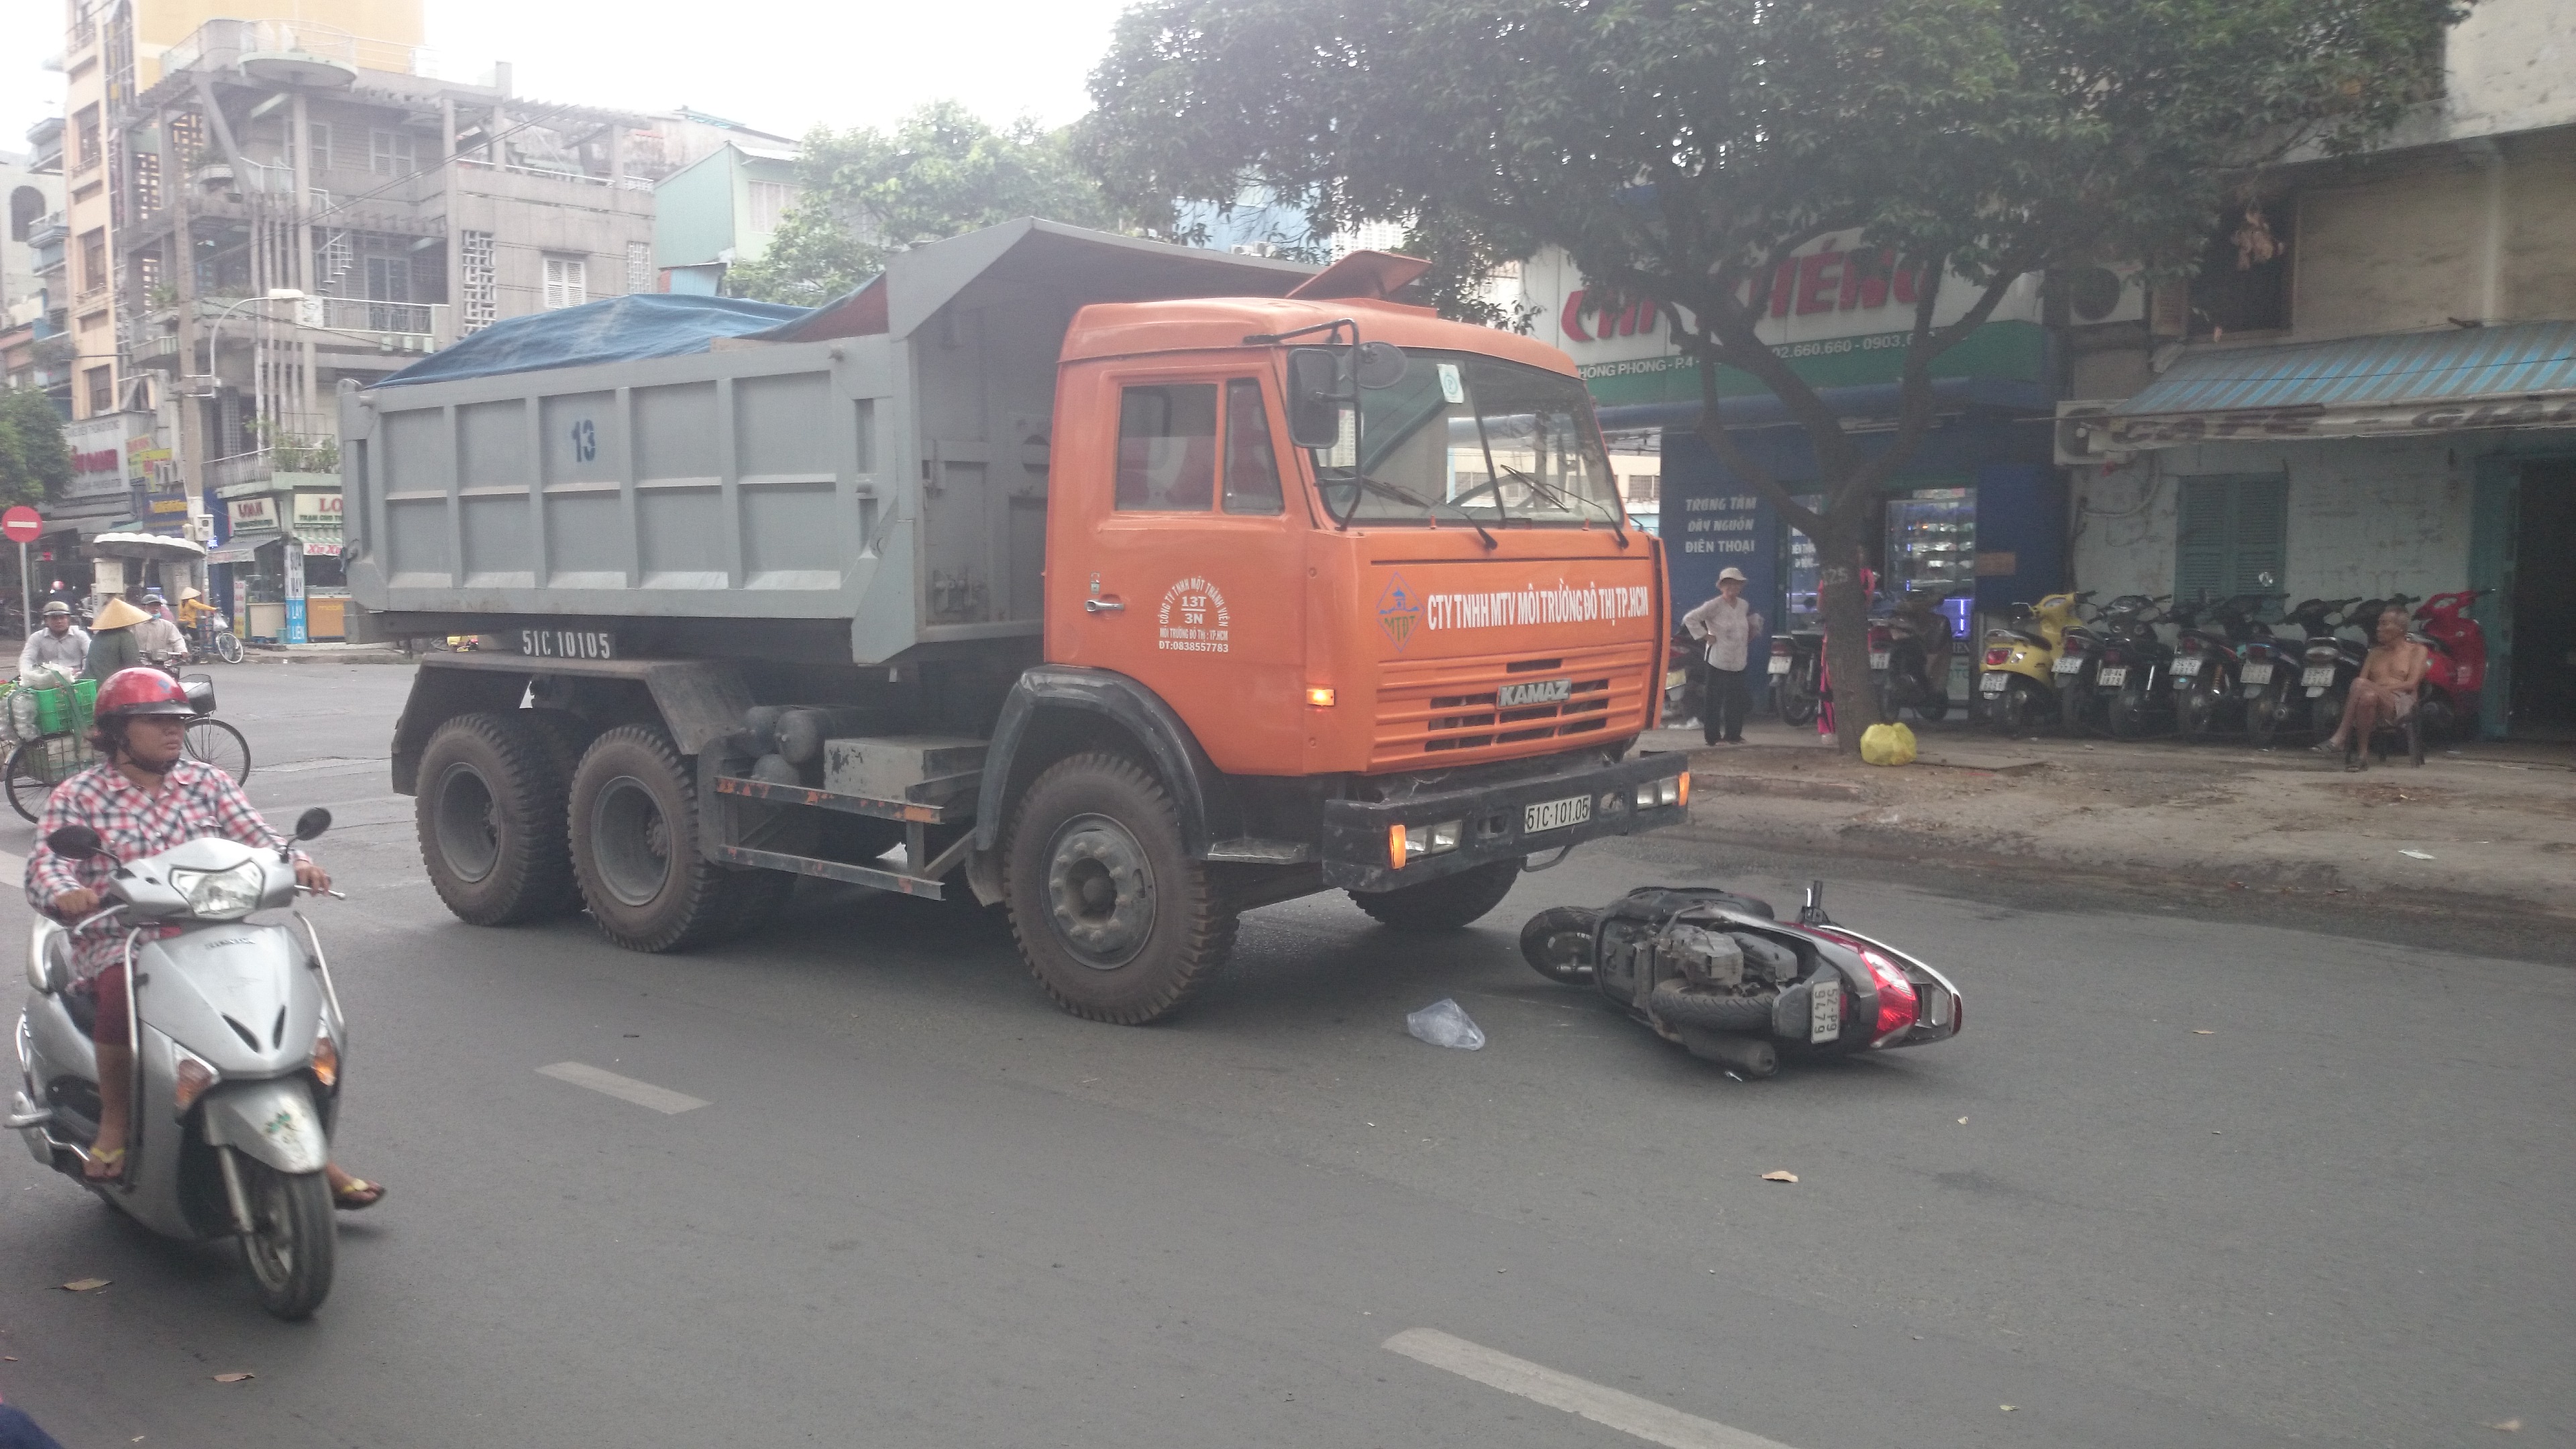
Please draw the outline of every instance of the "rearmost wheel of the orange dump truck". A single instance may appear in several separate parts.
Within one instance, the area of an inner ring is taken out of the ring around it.
[[[564,848],[564,776],[515,714],[459,714],[420,753],[420,864],[459,920],[515,926],[580,897]]]

